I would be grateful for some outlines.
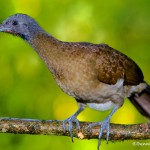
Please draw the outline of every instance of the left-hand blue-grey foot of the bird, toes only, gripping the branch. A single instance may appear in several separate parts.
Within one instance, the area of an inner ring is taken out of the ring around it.
[[[68,123],[68,131],[71,137],[71,140],[73,142],[73,134],[72,134],[72,129],[73,129],[73,123],[76,123],[78,130],[80,130],[80,124],[78,119],[76,118],[75,115],[72,115],[71,117],[67,118],[66,120],[63,121],[63,128],[66,130],[66,123]]]

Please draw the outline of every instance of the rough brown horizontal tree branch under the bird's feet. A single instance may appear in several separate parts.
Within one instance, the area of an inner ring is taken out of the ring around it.
[[[73,136],[80,139],[97,139],[99,126],[88,130],[89,122],[80,122],[81,130],[73,125]],[[0,133],[43,134],[69,136],[62,127],[62,121],[19,118],[0,118]],[[106,138],[106,132],[102,139]],[[110,140],[150,139],[150,123],[119,125],[110,124]]]

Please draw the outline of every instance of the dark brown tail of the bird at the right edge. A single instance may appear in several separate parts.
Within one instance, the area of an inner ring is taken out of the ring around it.
[[[150,120],[150,86],[148,85],[140,94],[132,94],[129,99],[139,112]]]

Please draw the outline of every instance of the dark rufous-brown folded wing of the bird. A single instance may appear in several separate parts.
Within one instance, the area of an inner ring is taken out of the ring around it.
[[[108,45],[100,44],[99,49],[96,64],[101,82],[115,84],[120,78],[124,78],[124,85],[143,82],[143,73],[133,60]]]

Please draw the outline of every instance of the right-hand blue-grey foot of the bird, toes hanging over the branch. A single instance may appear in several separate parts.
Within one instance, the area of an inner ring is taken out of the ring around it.
[[[100,131],[99,131],[99,135],[98,135],[98,147],[97,149],[99,150],[99,147],[101,145],[101,138],[102,138],[102,135],[103,135],[103,132],[106,130],[106,142],[108,144],[108,140],[109,140],[109,133],[110,133],[110,118],[106,118],[105,120],[103,120],[102,122],[96,122],[96,123],[92,123],[88,126],[88,128],[91,130],[92,127],[94,126],[98,126],[100,125]]]

